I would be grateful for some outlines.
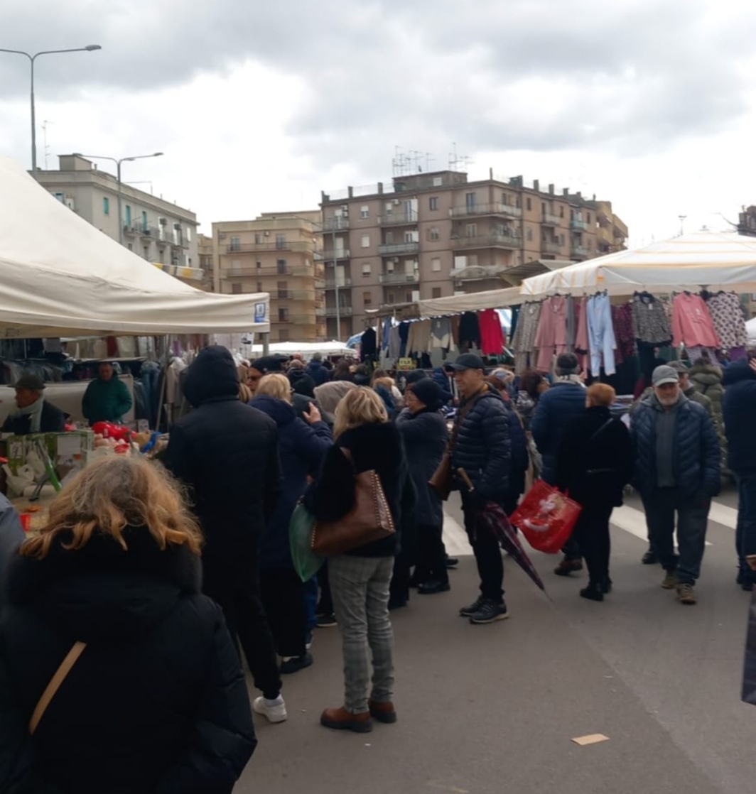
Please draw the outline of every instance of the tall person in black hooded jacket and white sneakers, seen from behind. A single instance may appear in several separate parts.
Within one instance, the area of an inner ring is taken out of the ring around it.
[[[255,711],[286,719],[276,651],[260,600],[258,549],[280,494],[276,422],[241,403],[233,357],[206,347],[183,384],[195,410],[171,429],[166,466],[190,488],[202,524],[202,591],[223,609],[255,686]]]

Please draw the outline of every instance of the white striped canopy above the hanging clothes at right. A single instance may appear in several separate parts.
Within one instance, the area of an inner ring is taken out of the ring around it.
[[[628,295],[637,289],[756,291],[756,237],[694,232],[633,251],[600,256],[523,281],[523,299],[556,291]]]

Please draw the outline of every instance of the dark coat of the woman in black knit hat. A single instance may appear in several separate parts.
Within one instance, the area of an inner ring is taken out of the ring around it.
[[[396,418],[404,439],[407,466],[417,493],[415,515],[419,524],[443,526],[441,498],[430,489],[428,480],[441,463],[449,441],[446,419],[438,410],[421,410],[417,414],[405,408]]]

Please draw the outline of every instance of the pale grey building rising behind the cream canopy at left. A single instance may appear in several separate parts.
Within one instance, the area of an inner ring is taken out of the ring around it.
[[[137,256],[195,287],[201,286],[197,216],[122,182],[80,155],[61,155],[57,171],[38,170],[37,182],[85,221]]]

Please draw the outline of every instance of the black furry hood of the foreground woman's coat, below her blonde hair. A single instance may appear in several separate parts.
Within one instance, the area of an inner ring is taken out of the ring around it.
[[[6,570],[12,606],[31,607],[45,622],[83,642],[118,640],[152,630],[183,594],[199,593],[200,558],[186,546],[160,550],[144,527],[127,528],[128,549],[100,532],[82,549],[64,549],[64,533],[47,557],[13,557]]]

